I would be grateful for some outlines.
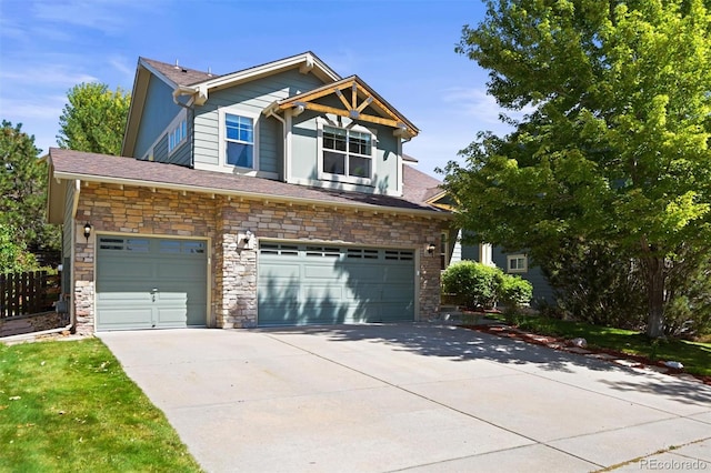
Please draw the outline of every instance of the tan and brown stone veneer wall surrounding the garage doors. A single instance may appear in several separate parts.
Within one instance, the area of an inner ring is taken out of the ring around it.
[[[74,311],[78,333],[94,328],[94,242],[97,233],[140,233],[147,236],[210,239],[211,312],[208,325],[248,328],[257,324],[257,249],[246,248],[239,234],[250,230],[258,239],[328,241],[367,246],[417,249],[420,319],[434,315],[440,303],[440,219],[393,215],[333,207],[268,203],[222,195],[122,187],[82,184],[77,224],[93,225],[89,242],[74,245]],[[81,235],[81,232],[78,232]]]

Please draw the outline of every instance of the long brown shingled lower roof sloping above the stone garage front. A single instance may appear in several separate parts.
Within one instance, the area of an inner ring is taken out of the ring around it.
[[[259,195],[263,198],[274,197],[283,200],[307,200],[332,204],[358,204],[380,208],[422,210],[440,212],[441,210],[428,205],[420,195],[424,195],[427,189],[417,191],[418,185],[439,182],[424,179],[417,170],[405,171],[408,175],[415,177],[412,189],[405,192],[403,198],[382,194],[368,194],[362,192],[346,192],[332,189],[322,189],[307,185],[289,184],[270,179],[237,175],[224,172],[202,171],[176,164],[163,164],[152,161],[141,161],[133,158],[112,157],[107,154],[87,153],[82,151],[50,148],[50,162],[54,173],[76,179],[91,178],[97,181],[128,181],[148,185],[174,185],[179,188],[196,187],[203,191],[216,193],[229,192],[244,195]],[[409,167],[404,167],[405,169]],[[418,183],[419,182],[419,183]],[[407,185],[407,183],[405,183]]]

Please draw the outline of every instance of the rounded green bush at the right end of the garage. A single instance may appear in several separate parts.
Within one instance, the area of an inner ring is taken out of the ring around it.
[[[442,273],[442,291],[454,294],[459,303],[468,309],[491,309],[497,302],[520,305],[531,300],[531,283],[504,274],[501,269],[461,261]]]

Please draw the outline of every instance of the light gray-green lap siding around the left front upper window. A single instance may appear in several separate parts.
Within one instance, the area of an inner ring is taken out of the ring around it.
[[[196,108],[194,161],[198,164],[219,165],[219,109],[232,107],[258,115],[259,163],[261,171],[279,172],[281,168],[281,123],[261,115],[270,103],[297,93],[312,90],[323,83],[312,74],[297,70],[253,80],[237,87],[210,93],[207,103]]]

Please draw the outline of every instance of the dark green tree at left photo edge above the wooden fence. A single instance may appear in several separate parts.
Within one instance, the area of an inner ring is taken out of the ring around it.
[[[34,137],[22,124],[3,120],[0,129],[0,271],[31,269],[29,246],[51,244],[44,224],[47,165],[38,159]]]

